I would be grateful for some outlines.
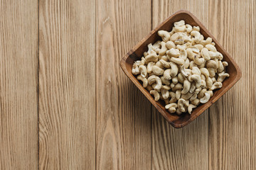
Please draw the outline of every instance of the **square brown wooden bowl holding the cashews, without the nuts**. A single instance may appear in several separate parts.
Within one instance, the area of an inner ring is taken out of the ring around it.
[[[180,20],[184,20],[185,23],[188,23],[191,26],[199,26],[200,32],[201,34],[203,34],[205,38],[213,38],[213,42],[215,42],[216,49],[223,54],[223,61],[228,62],[226,72],[230,74],[230,77],[223,81],[223,87],[221,89],[213,91],[213,97],[211,97],[207,103],[201,104],[197,108],[193,109],[191,115],[188,113],[183,113],[181,115],[170,114],[164,108],[164,101],[154,101],[154,98],[149,94],[149,91],[144,89],[142,84],[140,84],[140,82],[132,74],[132,64],[134,64],[134,61],[141,59],[141,57],[143,56],[143,52],[148,50],[147,45],[149,43],[153,44],[157,40],[161,40],[159,35],[157,35],[158,30],[171,31],[171,29],[174,26],[174,22]],[[215,101],[217,101],[218,98],[223,96],[223,94],[225,94],[225,92],[227,92],[241,78],[242,75],[238,67],[238,64],[235,63],[235,61],[233,60],[232,57],[230,57],[228,52],[226,52],[223,49],[220,43],[213,37],[213,35],[211,35],[211,33],[206,29],[206,27],[203,26],[203,24],[200,21],[198,21],[198,18],[193,16],[192,13],[185,10],[177,11],[169,18],[167,18],[166,21],[162,22],[159,26],[152,30],[151,33],[149,33],[149,35],[146,35],[145,38],[143,38],[137,45],[135,45],[132,48],[132,50],[130,50],[127,53],[127,55],[125,55],[122,58],[120,66],[122,67],[122,70],[127,75],[127,77],[129,77],[129,79],[132,80],[132,82],[139,88],[140,91],[142,91],[142,93],[156,107],[156,109],[161,113],[161,115],[163,115],[164,118],[166,118],[166,120],[175,128],[181,128],[185,125],[188,125],[188,123],[191,123],[192,120],[201,115],[203,111],[206,111],[206,109],[209,108]]]

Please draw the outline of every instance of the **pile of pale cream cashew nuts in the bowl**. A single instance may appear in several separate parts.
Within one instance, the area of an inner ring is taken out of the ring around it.
[[[213,96],[229,74],[228,62],[215,48],[212,38],[205,38],[198,26],[185,25],[181,20],[174,23],[171,32],[159,30],[162,41],[148,45],[142,60],[134,62],[132,74],[155,101],[166,103],[169,113],[188,112]]]

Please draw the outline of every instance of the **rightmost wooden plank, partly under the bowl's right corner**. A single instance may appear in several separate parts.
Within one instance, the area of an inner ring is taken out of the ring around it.
[[[250,0],[209,4],[210,31],[242,70],[238,84],[210,107],[210,169],[256,167],[255,5]]]

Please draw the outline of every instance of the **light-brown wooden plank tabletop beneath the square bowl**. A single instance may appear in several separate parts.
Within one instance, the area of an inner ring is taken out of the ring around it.
[[[242,79],[175,129],[119,67],[179,9]],[[256,1],[0,0],[1,169],[256,169]]]

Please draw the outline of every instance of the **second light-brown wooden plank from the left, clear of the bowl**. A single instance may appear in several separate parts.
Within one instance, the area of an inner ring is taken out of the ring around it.
[[[39,169],[95,169],[95,1],[39,11]]]

